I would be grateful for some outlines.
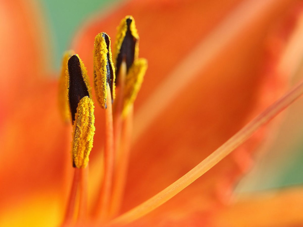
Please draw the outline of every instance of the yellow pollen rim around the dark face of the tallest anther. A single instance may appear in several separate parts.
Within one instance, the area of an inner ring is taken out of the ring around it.
[[[126,31],[127,31],[127,23],[126,20],[127,19],[131,19],[132,22],[129,26],[129,30],[131,31],[132,36],[137,39],[136,44],[135,44],[135,56],[134,56],[134,60],[136,60],[138,58],[139,55],[139,35],[138,35],[138,31],[136,28],[136,24],[135,24],[135,19],[130,16],[127,15],[125,16],[125,18],[123,18],[120,22],[120,25],[118,25],[117,27],[117,36],[116,36],[116,42],[115,42],[115,59],[114,59],[114,64],[117,65],[117,59],[118,59],[118,55],[120,54],[120,49],[123,43],[123,40],[125,38],[126,35]]]

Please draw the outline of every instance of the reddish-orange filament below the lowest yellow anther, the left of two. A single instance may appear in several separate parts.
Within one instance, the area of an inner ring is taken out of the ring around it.
[[[74,168],[74,177],[73,177],[72,187],[71,187],[71,191],[69,193],[69,198],[68,198],[68,202],[67,202],[65,216],[64,216],[64,219],[62,222],[62,227],[70,225],[72,222],[72,219],[73,219],[80,172],[81,172],[81,169]]]

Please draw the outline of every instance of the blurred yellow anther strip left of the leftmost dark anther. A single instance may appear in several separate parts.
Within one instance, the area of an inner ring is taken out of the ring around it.
[[[68,84],[66,84],[66,73],[68,59],[75,54],[73,50],[65,51],[62,58],[62,68],[59,77],[59,109],[62,119],[69,123],[71,119],[71,110],[68,103]]]

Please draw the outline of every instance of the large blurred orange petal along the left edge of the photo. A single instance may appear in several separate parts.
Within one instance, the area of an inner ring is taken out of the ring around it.
[[[70,134],[67,137],[58,115],[58,84],[46,82],[48,54],[35,5],[32,1],[4,1],[0,18],[2,218],[22,206],[28,196],[36,199],[34,195],[46,189],[54,192],[53,199],[61,198],[62,163],[69,154]]]

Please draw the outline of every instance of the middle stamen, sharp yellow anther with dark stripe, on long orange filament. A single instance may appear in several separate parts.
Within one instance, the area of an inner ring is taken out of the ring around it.
[[[108,218],[108,210],[112,193],[112,177],[114,169],[114,129],[112,101],[115,98],[115,68],[112,64],[110,38],[106,33],[95,37],[94,45],[95,91],[98,103],[105,108],[105,149],[104,178],[99,191],[95,215],[101,221]]]

